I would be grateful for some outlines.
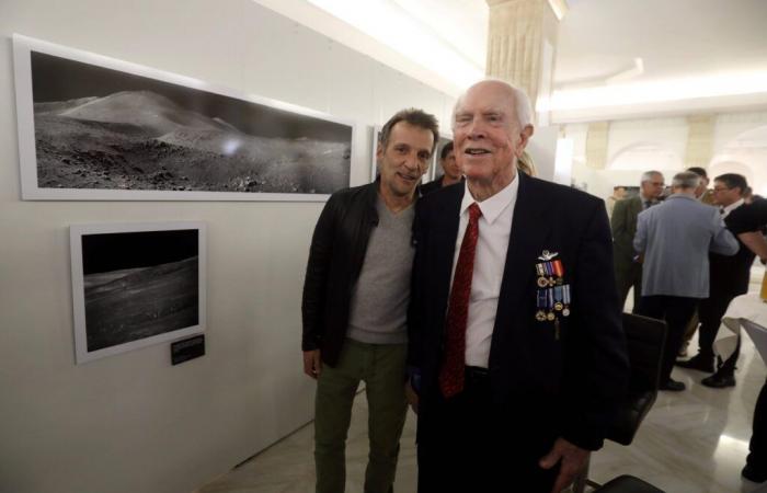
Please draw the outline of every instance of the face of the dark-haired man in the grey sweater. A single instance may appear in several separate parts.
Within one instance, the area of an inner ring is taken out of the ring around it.
[[[398,122],[391,128],[386,149],[376,151],[381,186],[396,197],[410,196],[421,176],[428,170],[434,134],[408,122]]]

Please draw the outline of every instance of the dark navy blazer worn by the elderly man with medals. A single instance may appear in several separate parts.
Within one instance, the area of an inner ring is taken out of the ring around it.
[[[546,435],[602,447],[625,395],[628,357],[613,274],[604,202],[518,173],[519,188],[490,349],[493,401],[516,419],[548,416]],[[439,399],[445,316],[463,184],[423,197],[416,208],[409,364],[422,376],[420,420]],[[571,286],[570,316],[536,319],[536,264],[557,252]],[[535,420],[534,420],[535,421]],[[420,426],[421,427],[421,426]]]

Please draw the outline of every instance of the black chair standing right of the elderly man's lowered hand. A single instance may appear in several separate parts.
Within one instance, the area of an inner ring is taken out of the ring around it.
[[[632,313],[623,313],[623,332],[629,353],[631,374],[629,391],[620,405],[616,420],[607,432],[607,439],[620,445],[631,445],[644,416],[657,398],[661,377],[661,363],[666,342],[666,322]],[[636,480],[636,481],[634,481]],[[644,483],[637,478],[623,475],[602,486],[588,479],[588,465],[573,484],[573,493],[583,493],[585,486],[596,488],[599,492],[610,493],[656,493],[656,488],[642,490]],[[608,488],[600,490],[599,488]]]

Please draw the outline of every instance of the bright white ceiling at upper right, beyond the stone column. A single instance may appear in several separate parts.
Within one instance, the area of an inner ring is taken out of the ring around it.
[[[569,0],[560,23],[558,88],[644,62],[632,81],[767,70],[765,0]],[[600,80],[602,79],[602,80]]]

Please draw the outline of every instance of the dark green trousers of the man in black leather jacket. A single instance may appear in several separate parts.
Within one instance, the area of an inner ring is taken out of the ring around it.
[[[367,395],[370,445],[365,493],[392,491],[408,410],[405,356],[405,344],[365,344],[347,339],[335,368],[322,366],[314,401],[317,493],[344,491],[346,434],[360,381]]]

